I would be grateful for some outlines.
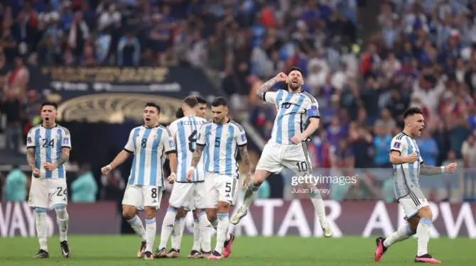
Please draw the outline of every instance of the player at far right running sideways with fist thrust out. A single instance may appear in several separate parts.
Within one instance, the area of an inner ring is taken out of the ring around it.
[[[388,238],[377,238],[375,261],[380,261],[386,250],[396,242],[405,240],[416,233],[418,250],[415,262],[440,263],[428,254],[428,240],[433,222],[433,214],[423,192],[419,177],[423,175],[453,173],[458,167],[455,163],[441,167],[423,163],[420,150],[414,138],[421,136],[425,122],[421,110],[412,107],[404,113],[404,131],[391,140],[390,162],[394,165],[394,192],[397,201],[404,208],[406,225],[401,226]]]

